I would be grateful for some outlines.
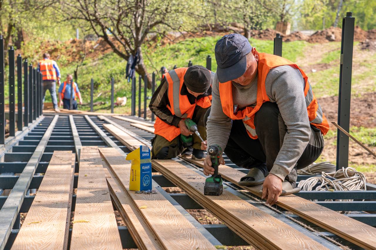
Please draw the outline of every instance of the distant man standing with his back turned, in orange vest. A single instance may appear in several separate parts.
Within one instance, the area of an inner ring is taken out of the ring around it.
[[[56,99],[56,81],[60,85],[60,70],[55,61],[50,59],[49,53],[43,54],[43,60],[39,61],[39,71],[43,76],[43,103],[46,90],[48,89],[51,94],[53,108],[59,112],[58,101]]]

